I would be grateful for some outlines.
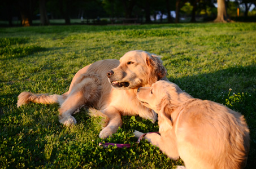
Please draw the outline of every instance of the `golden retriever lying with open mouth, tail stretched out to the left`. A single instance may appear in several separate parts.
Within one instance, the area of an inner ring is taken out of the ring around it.
[[[114,134],[122,126],[122,115],[139,115],[153,122],[155,112],[137,99],[139,87],[149,87],[160,79],[168,81],[166,69],[159,56],[145,51],[129,51],[120,60],[101,60],[85,66],[75,74],[68,92],[62,95],[43,95],[22,92],[18,107],[33,103],[58,103],[59,121],[66,126],[76,124],[72,116],[82,106],[88,106],[93,115],[105,117],[102,139]]]

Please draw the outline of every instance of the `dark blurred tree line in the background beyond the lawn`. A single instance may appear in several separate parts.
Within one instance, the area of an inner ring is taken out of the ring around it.
[[[224,1],[224,0],[223,0]],[[256,21],[255,0],[225,0],[233,21]],[[3,0],[0,26],[212,21],[216,0]]]

